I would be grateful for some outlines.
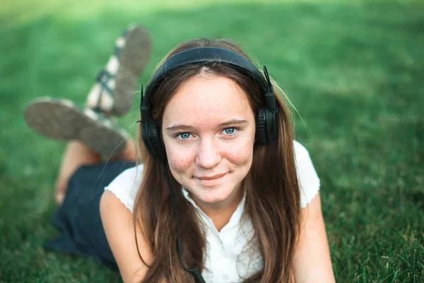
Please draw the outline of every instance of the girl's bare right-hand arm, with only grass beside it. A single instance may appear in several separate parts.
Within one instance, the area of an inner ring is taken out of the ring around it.
[[[319,192],[300,214],[300,237],[293,261],[295,282],[335,282]]]

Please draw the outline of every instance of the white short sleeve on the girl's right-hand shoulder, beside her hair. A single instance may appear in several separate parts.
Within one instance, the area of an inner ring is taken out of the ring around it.
[[[298,141],[293,141],[295,148],[295,164],[300,187],[300,206],[306,207],[319,191],[319,178],[310,155]]]

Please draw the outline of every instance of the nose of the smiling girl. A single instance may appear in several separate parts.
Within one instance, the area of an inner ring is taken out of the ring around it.
[[[210,169],[221,161],[220,149],[213,138],[201,139],[197,149],[196,164],[201,168]]]

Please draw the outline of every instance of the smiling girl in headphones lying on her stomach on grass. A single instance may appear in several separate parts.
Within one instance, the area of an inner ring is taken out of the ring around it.
[[[183,42],[142,90],[136,166],[130,139],[104,146],[125,137],[105,118],[36,101],[28,112],[60,112],[58,129],[81,120],[50,246],[117,265],[124,282],[334,282],[319,178],[282,96],[235,42]]]

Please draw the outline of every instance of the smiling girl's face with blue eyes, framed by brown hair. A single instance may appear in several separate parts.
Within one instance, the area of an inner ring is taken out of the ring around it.
[[[254,113],[247,94],[224,76],[204,74],[179,87],[163,113],[170,171],[199,207],[240,196],[253,158]]]

